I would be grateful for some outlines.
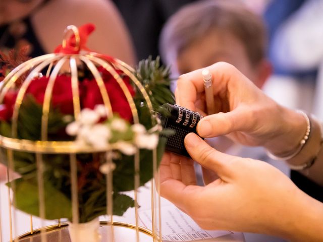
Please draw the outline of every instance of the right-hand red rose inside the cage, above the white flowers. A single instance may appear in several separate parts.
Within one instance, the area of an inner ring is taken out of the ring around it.
[[[98,67],[98,71],[100,72],[104,86],[109,94],[112,110],[115,113],[119,113],[119,115],[131,122],[132,120],[132,113],[128,103],[128,100],[119,86],[118,82],[115,78],[107,72],[103,67]],[[117,70],[119,75],[123,73]],[[130,85],[130,80],[128,76],[123,77],[123,81],[125,82],[128,90],[130,91],[131,95],[134,96],[135,92]],[[93,109],[95,105],[102,104],[103,99],[100,93],[99,87],[96,84],[95,79],[91,80],[84,80],[84,97],[82,98],[83,108],[88,107]]]

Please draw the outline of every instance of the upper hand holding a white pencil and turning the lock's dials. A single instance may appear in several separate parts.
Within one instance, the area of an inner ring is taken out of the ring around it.
[[[228,135],[251,146],[264,146],[274,154],[290,153],[306,132],[304,117],[267,97],[235,67],[216,63],[212,74],[214,103],[218,113],[200,120],[197,132],[204,138]],[[205,114],[202,70],[182,75],[176,102]]]

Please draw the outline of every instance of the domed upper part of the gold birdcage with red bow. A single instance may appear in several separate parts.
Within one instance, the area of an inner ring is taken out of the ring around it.
[[[135,133],[141,123],[138,103],[134,99],[138,95],[141,96],[140,105],[148,110],[150,124],[145,128],[157,125],[157,119],[150,112],[150,98],[134,69],[117,58],[86,47],[87,36],[93,29],[91,24],[80,28],[68,26],[62,45],[54,53],[29,59],[4,79],[0,89],[0,103],[5,113],[2,116],[0,112],[3,121],[0,146],[40,153],[114,149],[114,142],[93,146],[83,140],[80,145],[82,135],[75,133],[76,129],[85,127],[93,118],[95,124],[119,118],[137,125],[137,128],[131,128]],[[74,124],[74,136],[69,134],[70,131],[73,133],[73,125],[68,128],[71,123]],[[127,136],[130,128],[124,129],[124,136]],[[87,132],[93,134],[94,131]],[[97,128],[95,132],[107,131]],[[126,141],[130,139],[124,138]]]

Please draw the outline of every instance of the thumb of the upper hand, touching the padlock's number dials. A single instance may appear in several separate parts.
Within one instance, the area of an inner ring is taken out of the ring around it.
[[[203,138],[245,131],[251,125],[251,112],[237,108],[230,112],[219,112],[203,117],[197,124],[197,133]]]

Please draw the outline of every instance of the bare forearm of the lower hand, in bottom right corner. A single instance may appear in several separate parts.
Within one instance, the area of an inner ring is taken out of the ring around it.
[[[296,186],[275,191],[277,197],[261,212],[255,231],[288,241],[323,241],[323,203]]]

